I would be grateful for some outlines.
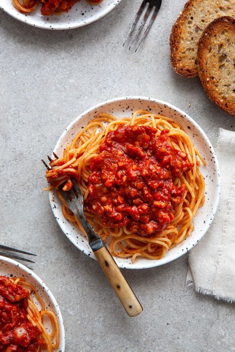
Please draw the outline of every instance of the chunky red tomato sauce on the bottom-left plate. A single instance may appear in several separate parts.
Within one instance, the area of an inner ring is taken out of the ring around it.
[[[0,276],[0,351],[36,352],[40,332],[27,319],[29,291]]]

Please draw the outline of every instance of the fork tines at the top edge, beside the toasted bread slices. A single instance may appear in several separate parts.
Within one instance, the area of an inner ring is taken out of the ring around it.
[[[160,7],[161,7],[161,0],[144,0],[142,2],[141,6],[139,8],[139,11],[137,12],[137,15],[134,19],[134,22],[132,23],[132,26],[128,32],[126,40],[123,43],[123,46],[126,44],[128,38],[130,37],[130,39],[131,39],[131,44],[129,47],[129,50],[130,50],[132,45],[135,42],[138,42],[138,39],[140,37],[140,34],[142,33],[142,30],[144,30],[144,33],[142,34],[142,37],[139,40],[139,44],[137,45],[137,48],[135,50],[135,52],[137,52],[141,43],[143,42],[143,40],[147,36],[152,24],[154,23],[154,20],[157,17],[157,13],[158,13]],[[136,25],[138,24],[142,15],[144,16],[144,18],[141,21],[139,28],[136,31],[134,31],[136,28]],[[147,23],[148,20],[149,20],[149,23]],[[135,32],[135,36],[133,37],[134,32]]]

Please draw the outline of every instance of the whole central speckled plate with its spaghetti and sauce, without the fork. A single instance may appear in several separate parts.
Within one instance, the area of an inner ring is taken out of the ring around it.
[[[126,97],[99,104],[66,128],[54,152],[59,159],[46,174],[53,213],[92,258],[58,192],[61,184],[70,188],[70,176],[82,189],[88,222],[119,267],[170,262],[211,225],[220,192],[215,152],[198,124],[168,103]]]

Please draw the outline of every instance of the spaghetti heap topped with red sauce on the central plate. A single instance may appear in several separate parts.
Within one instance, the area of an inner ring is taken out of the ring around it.
[[[199,171],[206,165],[183,128],[169,117],[136,111],[117,119],[99,114],[67,145],[63,157],[46,172],[51,185],[83,192],[85,215],[102,239],[111,238],[117,257],[160,259],[193,230],[193,217],[204,203]],[[63,203],[65,218],[82,232]]]

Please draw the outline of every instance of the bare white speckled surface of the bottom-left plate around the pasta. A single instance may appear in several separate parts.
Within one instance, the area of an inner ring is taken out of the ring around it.
[[[60,344],[57,350],[53,350],[55,352],[64,352],[65,351],[65,328],[61,315],[60,308],[51,293],[51,291],[47,288],[44,282],[34,274],[30,269],[26,268],[24,265],[16,262],[15,260],[0,256],[0,275],[8,276],[8,277],[22,277],[25,278],[30,284],[32,284],[37,292],[42,297],[45,302],[46,309],[53,310],[58,318],[59,327],[60,327]],[[40,309],[40,303],[37,301],[34,296],[34,302],[36,306]],[[44,324],[46,329],[51,330],[50,323],[44,320]]]

